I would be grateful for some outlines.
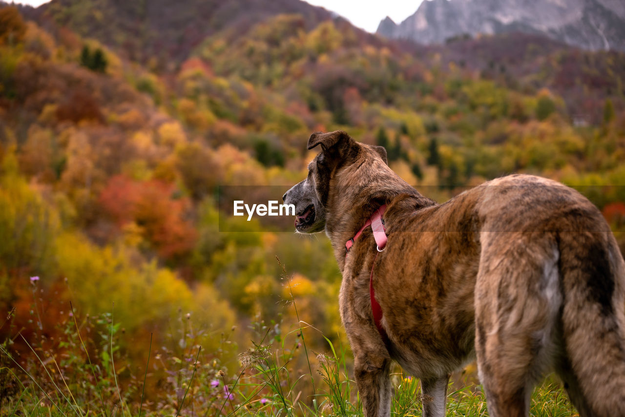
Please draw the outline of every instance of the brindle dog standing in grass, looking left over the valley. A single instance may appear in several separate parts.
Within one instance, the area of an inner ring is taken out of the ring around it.
[[[318,145],[283,199],[296,206],[298,232],[332,241],[365,416],[390,414],[391,359],[421,379],[424,416],[444,416],[449,373],[475,356],[491,416],[527,416],[532,387],[551,370],[581,416],[625,415],[625,263],[592,203],[512,175],[436,204],[391,171],[383,148],[342,131],[312,134],[308,149]],[[366,228],[346,253],[382,204],[384,251],[375,258]]]

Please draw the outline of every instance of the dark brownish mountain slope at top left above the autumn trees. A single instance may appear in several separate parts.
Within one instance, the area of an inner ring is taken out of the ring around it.
[[[52,0],[21,12],[46,28],[66,26],[159,69],[175,67],[203,39],[224,29],[244,34],[277,14],[306,16],[306,29],[332,18],[326,9],[299,0]]]

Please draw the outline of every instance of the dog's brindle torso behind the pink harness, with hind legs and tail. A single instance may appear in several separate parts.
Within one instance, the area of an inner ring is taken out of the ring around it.
[[[582,416],[625,413],[625,266],[592,203],[515,175],[440,206],[410,205],[400,197],[387,209],[374,278],[404,368],[436,378],[475,348],[493,416],[527,415],[549,371]]]

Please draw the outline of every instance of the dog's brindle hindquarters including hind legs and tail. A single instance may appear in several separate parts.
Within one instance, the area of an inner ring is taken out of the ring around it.
[[[625,415],[625,266],[601,213],[543,178],[481,192],[476,351],[491,414],[527,415],[556,370],[582,416]]]

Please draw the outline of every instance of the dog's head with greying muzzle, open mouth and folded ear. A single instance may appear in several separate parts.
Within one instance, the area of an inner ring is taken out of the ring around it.
[[[367,157],[380,158],[386,164],[386,150],[381,146],[357,143],[343,131],[313,133],[308,149],[321,146],[321,152],[308,164],[304,181],[284,193],[285,204],[295,206],[295,229],[299,233],[316,233],[326,227],[331,186],[337,171]],[[362,163],[360,163],[362,165]]]

